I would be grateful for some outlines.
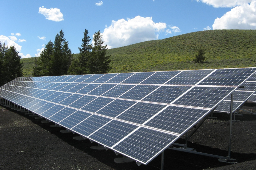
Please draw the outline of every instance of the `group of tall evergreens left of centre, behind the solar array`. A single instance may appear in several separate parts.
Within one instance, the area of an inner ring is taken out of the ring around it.
[[[68,41],[61,30],[55,36],[54,43],[48,42],[40,57],[35,57],[33,76],[58,76],[78,74],[107,73],[111,67],[110,56],[106,56],[107,45],[103,45],[100,31],[93,36],[93,44],[85,29],[81,48],[77,58],[73,58]]]

